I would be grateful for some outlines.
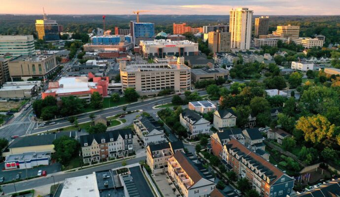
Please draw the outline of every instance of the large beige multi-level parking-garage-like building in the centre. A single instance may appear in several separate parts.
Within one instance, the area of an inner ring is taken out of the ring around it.
[[[175,92],[190,90],[190,68],[184,58],[168,63],[131,64],[120,62],[120,79],[123,90],[134,88],[139,95],[157,95],[170,89]]]

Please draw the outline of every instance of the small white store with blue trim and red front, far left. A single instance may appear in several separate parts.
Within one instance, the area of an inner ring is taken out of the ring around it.
[[[51,160],[51,152],[26,152],[6,156],[5,169],[27,169],[39,165],[48,165]]]

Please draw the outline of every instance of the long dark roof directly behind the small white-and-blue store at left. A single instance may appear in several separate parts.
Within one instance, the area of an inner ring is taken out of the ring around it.
[[[59,132],[50,133],[44,135],[29,135],[24,137],[15,138],[12,143],[9,144],[8,148],[19,148],[28,146],[43,146],[53,144],[53,141],[61,136],[74,137],[74,133],[71,132]],[[76,135],[76,133],[75,133]]]

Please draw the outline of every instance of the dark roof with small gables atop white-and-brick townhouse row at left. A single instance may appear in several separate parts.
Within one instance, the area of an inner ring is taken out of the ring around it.
[[[131,137],[129,135],[131,134]],[[106,131],[103,133],[95,133],[95,134],[88,134],[88,135],[81,135],[80,136],[80,145],[81,147],[85,147],[85,143],[87,143],[87,146],[91,146],[93,140],[96,140],[98,144],[102,143],[102,139],[105,139],[104,143],[108,143],[113,139],[113,141],[117,141],[118,137],[122,136],[123,139],[125,139],[125,135],[128,135],[128,139],[133,138],[133,132],[131,129],[120,129],[120,130],[114,130],[114,131]]]

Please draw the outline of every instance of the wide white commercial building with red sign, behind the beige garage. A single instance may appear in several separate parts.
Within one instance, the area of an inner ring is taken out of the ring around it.
[[[189,56],[198,55],[198,43],[189,40],[171,41],[170,39],[160,39],[153,41],[140,41],[140,51],[147,57],[165,57],[165,56]]]

